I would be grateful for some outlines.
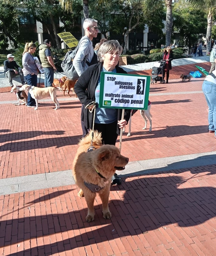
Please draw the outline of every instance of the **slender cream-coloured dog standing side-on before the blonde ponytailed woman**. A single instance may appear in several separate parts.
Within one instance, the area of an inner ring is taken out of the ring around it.
[[[30,86],[30,85],[23,85],[20,89],[20,91],[28,91],[32,98],[35,99],[36,101],[36,107],[35,110],[38,109],[38,100],[41,100],[43,98],[46,97],[51,97],[51,99],[53,100],[53,102],[56,105],[56,108],[60,108],[59,102],[57,100],[57,96],[56,96],[56,90],[61,90],[60,87],[45,87],[45,88],[39,88],[39,87],[35,87],[35,86]]]

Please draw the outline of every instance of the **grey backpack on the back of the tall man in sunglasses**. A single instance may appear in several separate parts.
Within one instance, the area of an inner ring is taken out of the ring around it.
[[[77,74],[77,71],[76,69],[74,68],[74,65],[73,65],[73,60],[74,60],[74,57],[78,51],[78,48],[80,46],[80,43],[83,39],[88,39],[90,41],[90,39],[88,37],[82,37],[79,41],[79,44],[77,45],[76,49],[71,51],[69,50],[62,63],[61,63],[61,67],[65,73],[65,75],[67,76],[67,78],[71,79],[71,80],[74,80],[74,79],[78,79],[79,78],[79,75]],[[85,66],[86,64],[86,61],[87,61],[87,58],[84,58],[84,64],[83,64],[83,67]]]

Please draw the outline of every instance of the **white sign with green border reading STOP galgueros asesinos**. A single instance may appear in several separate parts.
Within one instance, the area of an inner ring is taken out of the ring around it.
[[[151,77],[101,72],[100,108],[148,109]]]

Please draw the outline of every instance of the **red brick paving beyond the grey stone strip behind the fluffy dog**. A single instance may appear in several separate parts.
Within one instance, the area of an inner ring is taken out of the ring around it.
[[[203,79],[150,86],[153,130],[142,130],[142,117],[139,112],[133,115],[131,137],[127,133],[122,137],[122,154],[130,162],[215,151],[214,134],[207,133]],[[62,92],[58,95],[63,98]],[[60,101],[58,110],[52,101],[42,102],[37,111],[0,104],[0,125],[4,127],[0,130],[1,178],[71,169],[81,138],[81,104],[74,96],[73,100],[68,98]],[[9,100],[15,100],[15,95],[0,94],[0,102]]]

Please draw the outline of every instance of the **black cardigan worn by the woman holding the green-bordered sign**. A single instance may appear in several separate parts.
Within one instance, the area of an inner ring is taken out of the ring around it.
[[[94,64],[87,68],[82,75],[77,80],[74,91],[77,94],[79,100],[84,106],[95,100],[95,89],[98,86],[98,79],[101,74],[101,69],[103,63]],[[124,69],[116,66],[116,72],[127,74]],[[93,112],[94,113],[94,112]],[[84,121],[87,129],[92,129],[93,127],[93,113],[90,113],[88,109],[84,108],[83,113],[81,113],[81,119]],[[124,119],[128,122],[130,119],[130,110],[125,109]],[[122,109],[118,109],[118,119],[122,120]],[[119,126],[117,125],[117,134],[120,134]]]

